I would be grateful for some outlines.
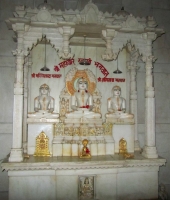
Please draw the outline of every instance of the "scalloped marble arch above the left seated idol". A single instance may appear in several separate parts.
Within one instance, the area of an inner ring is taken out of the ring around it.
[[[46,36],[47,42],[57,51],[62,50],[63,37],[59,33],[59,29],[52,28],[50,31],[47,28],[35,28],[30,27],[24,34],[24,54],[28,56],[30,51],[38,42],[42,41],[43,37]]]

